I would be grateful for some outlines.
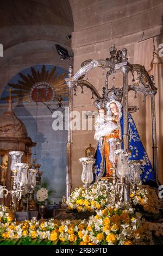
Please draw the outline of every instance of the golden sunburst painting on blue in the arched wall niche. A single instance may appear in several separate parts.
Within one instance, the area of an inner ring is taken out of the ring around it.
[[[68,101],[66,70],[53,65],[36,65],[22,70],[12,78],[1,96],[1,102]],[[9,92],[10,91],[10,92]]]

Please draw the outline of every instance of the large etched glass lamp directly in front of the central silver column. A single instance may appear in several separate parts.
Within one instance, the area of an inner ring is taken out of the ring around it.
[[[127,149],[118,149],[115,151],[117,156],[116,174],[119,179],[128,178],[129,176],[129,156],[131,151]]]

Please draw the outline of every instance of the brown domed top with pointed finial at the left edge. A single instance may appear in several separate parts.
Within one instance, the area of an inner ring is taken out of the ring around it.
[[[28,138],[26,126],[18,119],[12,111],[12,101],[9,100],[9,107],[0,117],[0,138]]]

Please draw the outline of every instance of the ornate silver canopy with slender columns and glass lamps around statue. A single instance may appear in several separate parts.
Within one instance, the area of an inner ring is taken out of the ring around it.
[[[135,94],[137,92],[140,92],[146,96],[151,97],[151,114],[152,114],[152,143],[153,143],[153,170],[155,174],[155,180],[158,184],[158,156],[157,156],[157,144],[156,144],[156,121],[155,121],[155,94],[157,92],[157,88],[154,84],[154,77],[151,75],[149,76],[147,70],[144,66],[140,64],[130,64],[128,62],[127,58],[127,49],[123,48],[122,51],[116,49],[115,45],[112,45],[110,48],[110,58],[106,59],[89,59],[85,60],[82,63],[82,68],[80,68],[76,74],[73,75],[73,68],[70,66],[68,78],[66,78],[67,86],[70,88],[70,102],[69,102],[69,112],[72,111],[72,99],[73,94],[76,95],[76,92],[78,88],[80,87],[83,89],[84,87],[87,87],[91,90],[92,97],[91,99],[94,99],[96,97],[96,102],[101,101],[107,101],[108,95],[111,91],[114,93],[117,97],[122,96],[123,99],[123,149],[121,149],[121,142],[118,139],[108,139],[109,147],[110,147],[110,155],[109,159],[112,163],[112,169],[113,169],[113,181],[111,185],[111,190],[114,191],[114,200],[116,197],[116,191],[123,190],[121,193],[121,200],[128,202],[129,201],[129,193],[130,193],[130,184],[133,184],[136,186],[137,183],[140,182],[140,161],[129,161],[129,132],[128,132],[128,112],[129,112],[129,106],[128,106],[128,92],[130,90],[134,91]],[[103,87],[103,95],[99,95],[97,89],[87,80],[84,80],[84,77],[87,76],[87,74],[92,69],[101,68],[102,72],[104,74],[104,70],[106,71],[106,78],[105,78],[105,87]],[[123,75],[123,87],[122,88],[109,88],[108,80],[110,75],[115,75],[117,71],[121,71]],[[133,83],[128,84],[128,74],[129,72],[133,76],[132,82],[135,81],[134,76],[135,72],[137,74],[137,80],[139,81],[139,84]],[[134,109],[135,108],[135,109]],[[136,106],[133,107],[132,110],[136,110]],[[117,140],[117,141],[116,141]],[[114,151],[114,148],[112,148],[112,145],[119,145],[120,147],[117,147],[116,154]],[[71,129],[71,122],[69,122],[68,127],[68,142],[67,142],[67,170],[66,170],[66,198],[70,196],[71,193],[71,152],[72,152],[72,129]],[[116,161],[115,161],[116,157]],[[122,167],[122,163],[118,164],[118,161],[123,162],[127,161],[128,166],[130,168],[126,168],[125,166]],[[93,164],[91,159],[80,159],[80,162],[83,163],[83,172],[84,170],[89,169],[86,166],[89,166],[89,164]],[[123,169],[123,170],[122,170]],[[129,170],[130,172],[133,172],[133,175],[131,175],[129,178]],[[83,181],[84,173],[82,174],[82,181]],[[89,177],[92,177],[91,175],[86,175],[87,180],[85,180],[85,186],[88,188],[92,179]],[[118,180],[118,181],[117,181]],[[106,182],[107,183],[107,182]],[[106,190],[108,190],[108,185],[104,184],[106,187]],[[136,188],[136,187],[135,187]]]

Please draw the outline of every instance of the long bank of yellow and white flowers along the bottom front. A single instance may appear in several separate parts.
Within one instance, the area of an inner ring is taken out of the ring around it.
[[[97,211],[89,220],[58,221],[47,220],[39,223],[31,221],[0,222],[1,239],[45,240],[55,244],[77,245],[136,245],[151,244],[152,229],[155,236],[163,235],[163,225],[149,227],[141,221],[141,215],[126,205],[109,206]],[[151,228],[151,230],[149,230]],[[148,234],[148,236],[147,236]]]

